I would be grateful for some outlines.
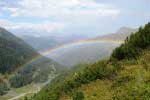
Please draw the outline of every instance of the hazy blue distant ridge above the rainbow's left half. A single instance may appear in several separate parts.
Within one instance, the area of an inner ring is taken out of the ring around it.
[[[47,51],[50,48],[67,44],[73,41],[87,39],[82,35],[68,35],[68,36],[33,36],[33,35],[22,35],[19,36],[26,43],[31,45],[34,49],[39,52]]]

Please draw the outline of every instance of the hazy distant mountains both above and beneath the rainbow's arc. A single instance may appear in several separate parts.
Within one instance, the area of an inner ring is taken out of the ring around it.
[[[56,36],[21,36],[29,45],[34,47],[39,52],[48,51],[51,48],[59,47],[68,43],[72,43],[78,40],[98,40],[98,41],[110,41],[110,43],[93,43],[82,44],[80,46],[68,46],[54,50],[54,52],[47,55],[47,57],[56,60],[65,67],[74,66],[78,63],[91,63],[99,59],[109,57],[111,52],[119,43],[111,43],[111,41],[123,41],[132,32],[136,32],[137,29],[129,27],[121,27],[117,32],[98,36],[95,38],[88,38],[83,36],[68,36],[68,37],[56,37]],[[64,51],[64,52],[62,52]],[[100,52],[101,51],[101,52]]]

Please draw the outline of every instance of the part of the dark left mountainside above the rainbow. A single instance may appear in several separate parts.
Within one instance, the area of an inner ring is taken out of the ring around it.
[[[38,53],[24,41],[0,28],[0,73],[15,71]]]

